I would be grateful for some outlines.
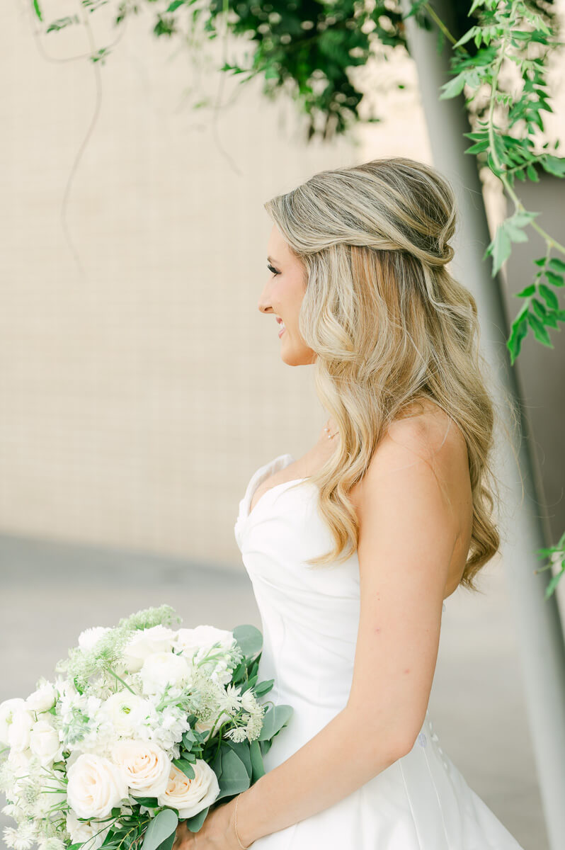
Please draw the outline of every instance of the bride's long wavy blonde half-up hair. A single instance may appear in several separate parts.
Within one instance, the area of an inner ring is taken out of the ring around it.
[[[473,522],[460,584],[478,591],[473,576],[500,546],[495,408],[482,376],[477,304],[446,268],[456,222],[449,183],[422,162],[387,157],[316,173],[264,207],[304,266],[298,327],[317,355],[319,400],[341,435],[339,450],[307,479],[319,487],[334,547],[306,563],[339,564],[356,551],[347,493],[391,422],[430,399],[466,439]]]

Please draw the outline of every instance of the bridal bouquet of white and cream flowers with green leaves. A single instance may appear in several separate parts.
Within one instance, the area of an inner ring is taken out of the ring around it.
[[[258,699],[255,626],[173,629],[169,605],[82,632],[27,699],[0,704],[3,831],[14,850],[171,850],[264,774],[291,706]]]

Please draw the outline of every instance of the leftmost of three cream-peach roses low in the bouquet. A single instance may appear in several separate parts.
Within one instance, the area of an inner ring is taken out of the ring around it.
[[[67,801],[79,818],[107,818],[127,797],[120,768],[93,753],[81,753],[67,771],[67,779]]]

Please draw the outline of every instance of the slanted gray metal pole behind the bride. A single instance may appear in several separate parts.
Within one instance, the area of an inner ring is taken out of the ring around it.
[[[451,4],[435,0],[438,17],[453,32]],[[401,0],[403,14],[410,11],[410,0]],[[506,348],[506,314],[500,283],[490,275],[489,261],[483,253],[489,245],[489,226],[483,205],[481,181],[474,156],[465,154],[472,144],[463,133],[471,127],[463,95],[440,100],[439,89],[451,78],[449,56],[451,45],[446,39],[441,54],[437,52],[438,31],[418,26],[414,16],[405,20],[410,54],[418,69],[421,99],[427,121],[434,166],[453,184],[460,211],[459,229],[455,236],[453,274],[467,286],[477,301],[481,323],[481,344],[485,360],[500,387],[492,382],[494,400],[501,411],[507,411],[504,394],[517,399],[520,445],[515,445],[519,469],[511,447],[501,441],[500,469],[496,473],[502,484],[504,501],[512,507],[509,533],[500,551],[511,589],[521,650],[525,699],[530,731],[540,781],[540,792],[551,850],[565,847],[565,647],[557,596],[545,599],[545,587],[551,570],[534,575],[540,566],[535,550],[545,547],[540,519],[540,500],[536,496],[534,465],[529,454],[531,435],[519,404],[515,371]],[[472,26],[471,19],[469,26]],[[457,270],[459,269],[459,271]],[[534,271],[534,266],[532,266]],[[499,405],[498,403],[501,403]],[[506,424],[511,428],[510,416]],[[520,484],[523,476],[524,493]],[[507,496],[504,496],[506,490]],[[510,504],[511,503],[511,504]]]

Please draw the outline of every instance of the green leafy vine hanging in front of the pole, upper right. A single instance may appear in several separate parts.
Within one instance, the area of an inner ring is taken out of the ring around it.
[[[487,165],[501,180],[506,193],[514,201],[514,212],[496,229],[483,259],[492,257],[492,275],[496,275],[511,254],[512,242],[528,241],[526,229],[530,226],[545,239],[547,246],[547,256],[541,261],[543,268],[535,275],[534,284],[517,296],[525,297],[527,301],[513,320],[510,337],[506,341],[513,364],[528,329],[542,345],[553,348],[547,327],[557,328],[559,321],[565,321],[565,310],[559,308],[557,293],[551,288],[562,286],[558,264],[562,261],[549,258],[552,248],[565,253],[565,247],[534,221],[540,213],[526,210],[514,188],[515,178],[538,182],[538,167],[555,177],[565,176],[564,158],[535,151],[536,130],[545,129],[541,113],[552,111],[547,102],[545,59],[549,51],[561,46],[562,42],[557,42],[554,37],[551,17],[520,0],[507,0],[505,3],[475,0],[471,11],[477,11],[479,22],[454,43],[450,65],[455,76],[441,87],[440,98],[455,97],[465,90],[466,105],[470,106],[479,91],[483,91],[485,86],[489,90],[488,99],[474,114],[474,132],[465,133],[466,138],[474,143],[466,149],[466,153],[476,155],[479,163]],[[469,57],[462,46],[471,40],[477,53]],[[529,49],[532,42],[537,46],[535,58],[532,58]],[[509,92],[502,88],[500,69],[504,62],[517,66],[522,81],[518,90],[515,86]],[[496,118],[495,112],[498,113]],[[545,143],[543,150],[546,151],[548,146]],[[557,140],[554,149],[558,146]],[[551,263],[556,262],[552,269]],[[540,265],[540,261],[536,260],[536,263]],[[544,274],[545,282],[540,280]]]

